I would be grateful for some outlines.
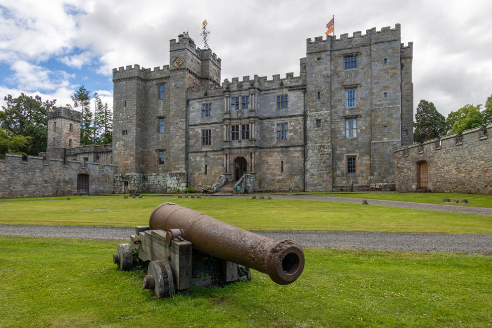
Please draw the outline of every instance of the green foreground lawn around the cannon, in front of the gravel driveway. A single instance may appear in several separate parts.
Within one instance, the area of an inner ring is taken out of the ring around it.
[[[117,242],[0,236],[0,327],[488,327],[492,257],[305,249],[291,285],[153,299],[112,264]]]

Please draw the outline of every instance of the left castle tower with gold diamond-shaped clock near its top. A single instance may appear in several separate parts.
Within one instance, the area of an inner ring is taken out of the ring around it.
[[[182,176],[188,174],[188,88],[219,85],[220,66],[216,54],[196,48],[193,39],[183,33],[177,41],[169,41],[169,65],[153,70],[139,65],[113,70],[116,188],[133,183],[134,178],[139,190],[182,188]]]

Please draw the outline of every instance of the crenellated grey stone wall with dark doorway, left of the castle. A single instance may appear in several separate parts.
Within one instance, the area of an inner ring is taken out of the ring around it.
[[[115,165],[86,163],[79,161],[51,159],[45,162],[42,157],[5,154],[0,160],[0,197],[49,197],[77,194],[78,174],[89,175],[89,194],[112,194],[114,192]]]

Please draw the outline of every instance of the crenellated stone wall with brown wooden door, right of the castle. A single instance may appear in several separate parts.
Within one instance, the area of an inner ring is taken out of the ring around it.
[[[492,194],[492,124],[395,150],[396,190]],[[427,174],[421,178],[421,164]],[[425,187],[427,183],[427,187]]]

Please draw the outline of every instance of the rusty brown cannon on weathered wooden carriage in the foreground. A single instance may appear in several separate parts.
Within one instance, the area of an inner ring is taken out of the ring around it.
[[[159,205],[149,226],[137,226],[130,244],[118,245],[113,262],[130,270],[137,253],[150,262],[142,286],[158,298],[217,281],[250,280],[250,268],[287,285],[304,269],[296,242],[262,237],[174,203]]]

